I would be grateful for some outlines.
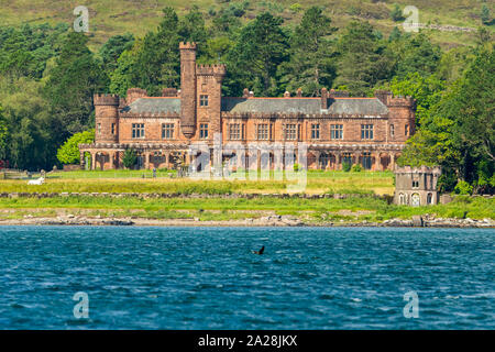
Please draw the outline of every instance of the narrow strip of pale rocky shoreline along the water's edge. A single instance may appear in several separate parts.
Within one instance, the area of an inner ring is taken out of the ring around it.
[[[411,219],[389,219],[383,222],[370,221],[305,221],[290,216],[268,216],[257,219],[210,220],[194,219],[144,219],[101,218],[82,216],[58,216],[56,218],[24,217],[0,220],[0,226],[138,226],[138,227],[400,227],[400,228],[495,228],[492,219],[455,219],[415,216]]]

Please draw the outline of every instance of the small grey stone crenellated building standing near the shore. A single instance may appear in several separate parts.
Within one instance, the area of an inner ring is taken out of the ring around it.
[[[397,167],[394,204],[413,207],[438,204],[437,182],[440,167]]]

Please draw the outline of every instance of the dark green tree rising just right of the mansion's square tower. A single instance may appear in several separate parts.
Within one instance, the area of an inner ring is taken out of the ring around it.
[[[284,20],[265,12],[248,23],[229,53],[227,85],[241,94],[250,87],[263,96],[283,91],[277,85],[278,66],[288,57],[288,36]]]

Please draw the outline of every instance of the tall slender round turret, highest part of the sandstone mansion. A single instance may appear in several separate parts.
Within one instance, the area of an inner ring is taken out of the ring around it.
[[[180,50],[180,130],[187,139],[196,131],[196,43],[179,44]]]

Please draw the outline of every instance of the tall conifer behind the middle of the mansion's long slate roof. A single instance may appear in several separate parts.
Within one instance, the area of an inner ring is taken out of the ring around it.
[[[322,87],[331,87],[336,77],[334,53],[328,38],[337,29],[317,7],[309,8],[290,38],[290,61],[285,65],[287,89],[301,88],[317,96]]]

